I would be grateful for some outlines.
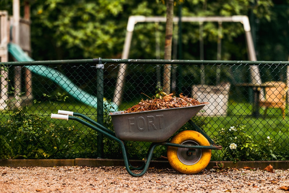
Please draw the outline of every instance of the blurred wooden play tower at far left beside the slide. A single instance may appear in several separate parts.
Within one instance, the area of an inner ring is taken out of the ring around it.
[[[28,55],[31,54],[30,41],[30,6],[28,1],[24,2],[24,17],[20,17],[20,2],[13,0],[13,16],[8,16],[7,11],[0,11],[0,57],[1,62],[8,62],[8,44],[12,41],[18,44]],[[12,30],[10,31],[10,27]],[[11,34],[10,34],[11,33]],[[10,72],[11,73],[11,72]],[[18,108],[23,101],[30,101],[32,96],[32,74],[29,70],[22,67],[14,68],[14,98],[11,106]],[[22,74],[24,76],[22,76]],[[8,94],[8,71],[1,69],[1,93],[0,93],[0,110],[5,109],[9,99]],[[24,77],[24,80],[22,80]],[[25,95],[22,95],[22,83],[25,85]]]

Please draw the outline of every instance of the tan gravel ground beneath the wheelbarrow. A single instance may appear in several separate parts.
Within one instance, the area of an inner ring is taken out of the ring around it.
[[[131,177],[124,167],[0,167],[0,192],[287,192],[289,170],[204,170],[184,175],[149,168]]]

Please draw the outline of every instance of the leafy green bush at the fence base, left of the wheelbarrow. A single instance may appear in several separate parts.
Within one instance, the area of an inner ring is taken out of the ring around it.
[[[69,158],[78,139],[74,127],[47,124],[27,107],[16,109],[0,129],[0,159]]]

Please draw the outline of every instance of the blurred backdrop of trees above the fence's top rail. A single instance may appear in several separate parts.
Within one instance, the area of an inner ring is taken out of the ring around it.
[[[128,18],[131,15],[165,16],[162,0],[29,0],[31,56],[34,60],[121,58]],[[247,15],[257,60],[288,60],[288,11],[286,0],[175,1],[174,15]],[[0,1],[12,15],[12,1]],[[200,27],[202,30],[200,30]],[[241,23],[175,23],[175,59],[216,60],[221,29],[221,60],[247,60]],[[218,31],[219,30],[219,31]],[[165,23],[138,23],[129,58],[163,58]],[[200,40],[203,39],[203,47]],[[178,52],[177,52],[178,51]],[[201,54],[200,54],[201,52]],[[203,52],[203,54],[202,54]]]

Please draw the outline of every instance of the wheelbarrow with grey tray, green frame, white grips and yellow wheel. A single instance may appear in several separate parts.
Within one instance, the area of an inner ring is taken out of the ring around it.
[[[133,177],[147,172],[153,150],[160,145],[167,146],[168,162],[174,170],[182,174],[196,174],[208,166],[212,149],[222,149],[191,120],[206,104],[137,113],[113,112],[110,115],[114,132],[81,113],[59,110],[58,114],[51,114],[51,118],[75,120],[117,141],[122,149],[125,168]],[[181,131],[167,141],[186,122],[194,130]],[[142,166],[134,167],[129,163],[123,141],[152,142]],[[133,170],[142,171],[134,173]]]

